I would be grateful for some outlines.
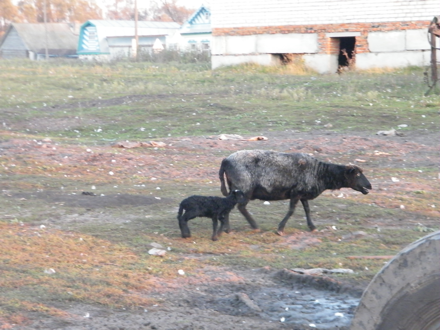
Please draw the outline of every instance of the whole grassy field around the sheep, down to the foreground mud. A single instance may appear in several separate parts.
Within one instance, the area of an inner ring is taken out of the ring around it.
[[[234,274],[225,269],[350,268],[356,274],[338,279],[366,283],[383,260],[346,257],[392,255],[438,227],[439,99],[422,96],[419,70],[323,77],[247,66],[0,66],[5,329],[36,315],[82,317],[66,312],[73,303],[160,305],[153,293],[227,281]],[[403,137],[374,136],[400,124],[408,125]],[[269,139],[207,138],[219,133]],[[118,140],[166,147],[111,147]],[[204,218],[190,221],[191,239],[180,238],[180,200],[220,195],[221,160],[255,148],[356,162],[373,191],[327,191],[312,201],[314,233],[298,208],[286,236],[276,235],[288,201],[253,201],[260,232],[234,210],[233,232],[218,242]],[[367,235],[350,236],[355,231]],[[167,254],[150,256],[150,242]],[[216,277],[204,274],[208,268]]]

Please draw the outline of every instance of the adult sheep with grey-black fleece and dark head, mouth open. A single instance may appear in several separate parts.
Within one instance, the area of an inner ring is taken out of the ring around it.
[[[246,202],[238,204],[238,210],[245,216],[253,229],[257,223],[246,209],[249,200],[280,201],[290,199],[290,209],[278,225],[277,233],[284,235],[287,220],[301,201],[307,217],[307,225],[315,230],[308,200],[318,197],[324,190],[352,188],[364,195],[371,184],[356,165],[337,165],[319,161],[304,153],[285,153],[272,150],[241,150],[231,154],[221,163],[219,177],[221,192],[240,190]]]

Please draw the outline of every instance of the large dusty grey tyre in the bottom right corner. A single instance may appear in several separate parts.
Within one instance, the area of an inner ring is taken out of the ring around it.
[[[440,231],[411,243],[364,291],[351,330],[440,330]]]

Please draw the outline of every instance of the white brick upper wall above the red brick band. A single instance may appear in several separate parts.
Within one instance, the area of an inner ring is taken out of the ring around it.
[[[212,28],[431,20],[438,0],[211,0]]]

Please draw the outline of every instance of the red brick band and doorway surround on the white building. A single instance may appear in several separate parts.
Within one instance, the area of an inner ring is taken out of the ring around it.
[[[367,35],[373,31],[399,31],[407,29],[425,29],[429,21],[408,22],[380,22],[380,23],[344,23],[344,24],[316,24],[316,25],[285,25],[285,26],[255,26],[235,28],[214,28],[216,36],[246,36],[250,34],[275,33],[318,33],[318,43],[322,54],[337,54],[339,40],[326,37],[327,32],[360,32],[356,37],[356,53],[367,53]]]

